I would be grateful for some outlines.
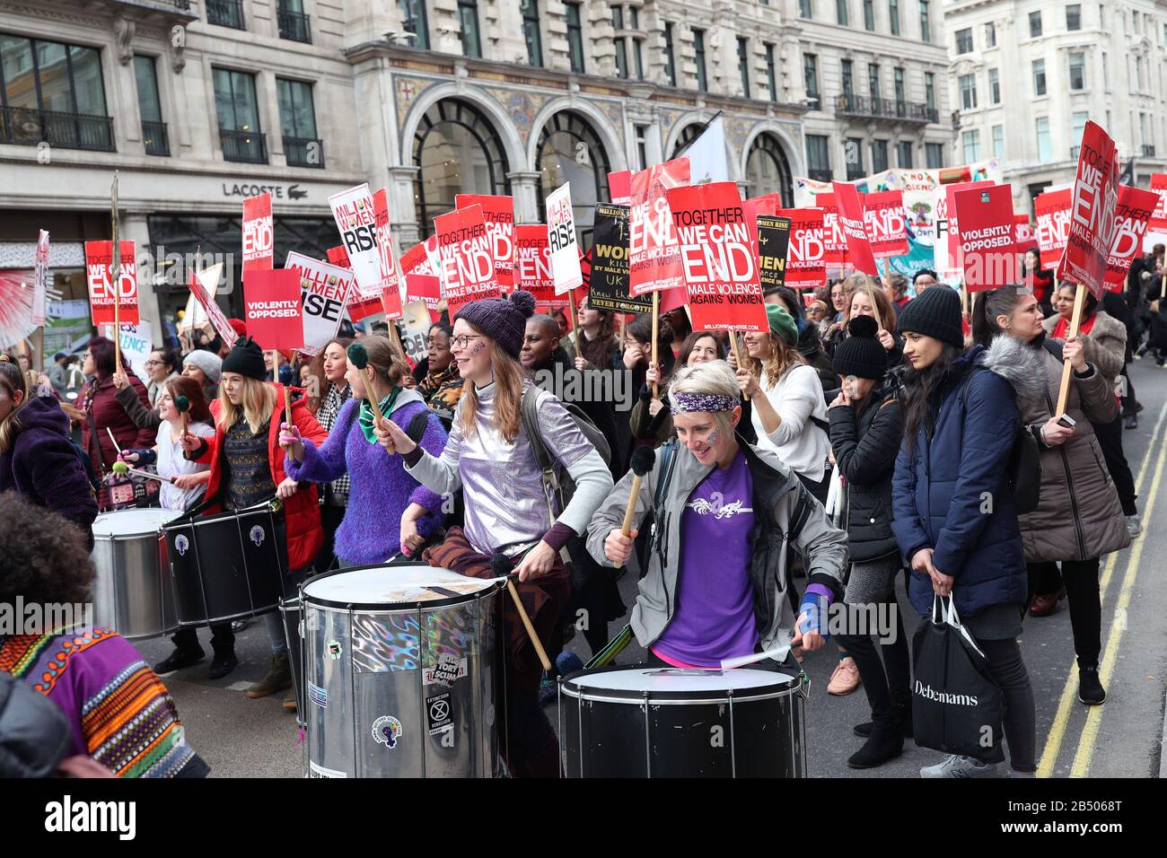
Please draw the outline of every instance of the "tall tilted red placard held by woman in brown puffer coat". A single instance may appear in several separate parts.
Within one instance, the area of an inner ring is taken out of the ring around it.
[[[1114,141],[1102,126],[1086,123],[1070,195],[1070,235],[1057,279],[1081,284],[1099,300],[1106,288],[1106,260],[1114,239],[1118,176]]]

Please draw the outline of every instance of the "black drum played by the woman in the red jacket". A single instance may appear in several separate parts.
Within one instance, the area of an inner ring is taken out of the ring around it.
[[[284,508],[183,516],[163,529],[180,626],[208,626],[274,611],[284,598]]]

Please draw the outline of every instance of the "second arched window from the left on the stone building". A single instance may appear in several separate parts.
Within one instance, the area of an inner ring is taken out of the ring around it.
[[[580,246],[592,245],[595,204],[608,200],[608,153],[595,130],[576,113],[555,113],[539,134],[539,219],[546,222],[546,200],[564,182],[572,183],[572,209]]]

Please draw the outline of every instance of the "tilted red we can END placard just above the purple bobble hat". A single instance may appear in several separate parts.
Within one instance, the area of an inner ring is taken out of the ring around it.
[[[434,218],[438,232],[438,259],[449,318],[462,305],[483,298],[498,298],[502,290],[495,279],[495,257],[481,205],[448,211]]]

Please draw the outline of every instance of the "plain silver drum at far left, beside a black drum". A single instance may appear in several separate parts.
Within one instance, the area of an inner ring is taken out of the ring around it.
[[[93,519],[93,621],[131,641],[179,627],[162,525],[181,512],[123,509]]]

